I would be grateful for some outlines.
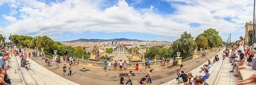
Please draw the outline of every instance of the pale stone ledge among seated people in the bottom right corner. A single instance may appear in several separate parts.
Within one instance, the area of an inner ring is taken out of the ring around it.
[[[253,68],[250,66],[247,66],[247,68],[245,69],[238,69],[238,72],[240,73],[242,79],[246,79],[250,77],[252,74],[256,74],[256,70],[253,70]],[[256,82],[246,84],[246,85],[255,85],[255,84]]]

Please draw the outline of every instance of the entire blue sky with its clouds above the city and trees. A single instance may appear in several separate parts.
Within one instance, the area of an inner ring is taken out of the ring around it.
[[[196,37],[215,28],[235,41],[252,21],[252,7],[250,0],[1,0],[0,34],[172,42],[184,31]]]

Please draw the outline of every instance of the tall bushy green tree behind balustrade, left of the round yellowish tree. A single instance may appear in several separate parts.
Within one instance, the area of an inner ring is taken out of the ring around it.
[[[173,45],[171,46],[171,49],[172,49],[171,55],[176,56],[176,53],[180,52],[181,53],[180,56],[183,59],[187,57],[191,57],[193,53],[193,41],[192,41],[193,39],[194,37],[192,37],[191,34],[188,34],[187,32],[183,32],[180,38],[173,42]]]

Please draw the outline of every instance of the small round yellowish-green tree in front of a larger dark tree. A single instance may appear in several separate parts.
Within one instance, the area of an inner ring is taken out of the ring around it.
[[[208,40],[203,37],[203,36],[200,36],[197,40],[196,40],[196,43],[197,43],[197,47],[198,48],[206,48],[207,45],[208,45]]]

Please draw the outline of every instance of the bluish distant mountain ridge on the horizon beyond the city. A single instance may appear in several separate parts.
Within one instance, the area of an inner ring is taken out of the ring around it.
[[[137,39],[126,39],[126,38],[119,38],[119,39],[110,39],[110,40],[104,40],[104,39],[79,39],[79,40],[71,40],[71,41],[64,41],[64,42],[107,42],[107,41],[138,41],[138,42],[144,42],[144,40],[137,40]]]

